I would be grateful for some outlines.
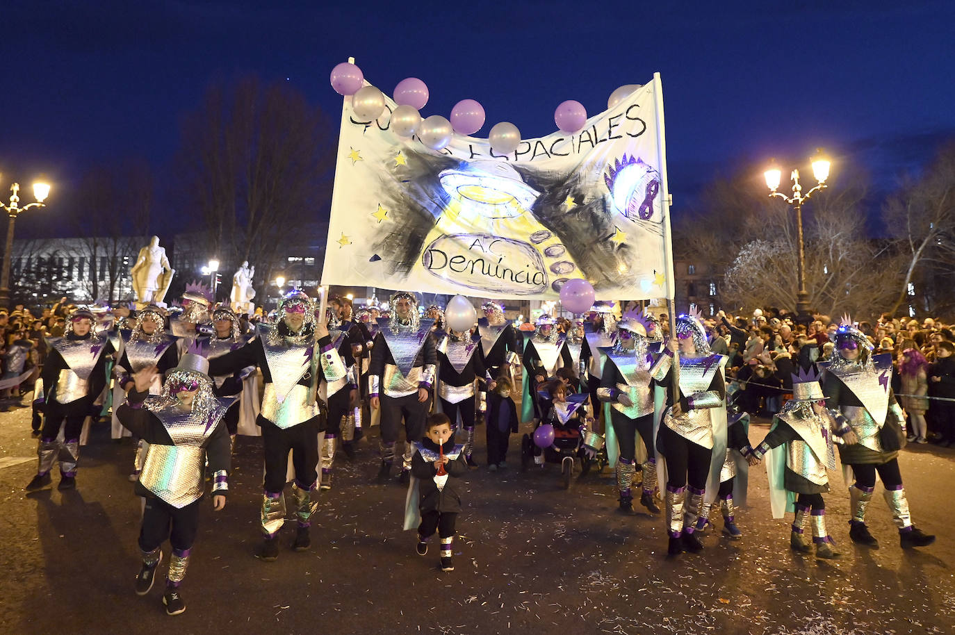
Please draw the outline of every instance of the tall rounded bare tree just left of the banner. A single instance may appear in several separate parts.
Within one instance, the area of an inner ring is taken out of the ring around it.
[[[334,139],[321,111],[285,84],[219,85],[183,126],[177,164],[210,255],[256,265],[257,291],[283,244],[330,196]]]

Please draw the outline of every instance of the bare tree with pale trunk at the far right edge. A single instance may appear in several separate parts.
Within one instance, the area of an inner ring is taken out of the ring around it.
[[[896,239],[904,275],[896,282],[891,312],[908,295],[922,268],[955,271],[955,142],[947,143],[919,179],[908,179],[888,201],[882,218]]]

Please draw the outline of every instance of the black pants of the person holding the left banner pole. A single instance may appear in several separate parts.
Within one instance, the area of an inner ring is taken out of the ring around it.
[[[288,451],[292,451],[292,466],[295,468],[295,482],[299,487],[310,490],[315,485],[318,474],[318,433],[320,417],[282,430],[274,423],[259,415],[262,426],[262,445],[265,451],[265,492],[274,494],[286,487],[288,470]]]

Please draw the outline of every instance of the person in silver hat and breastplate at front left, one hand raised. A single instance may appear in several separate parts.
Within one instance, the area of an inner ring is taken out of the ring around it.
[[[153,587],[162,560],[161,545],[168,539],[172,553],[162,603],[169,615],[185,610],[180,584],[199,531],[206,461],[216,510],[225,506],[228,491],[230,444],[223,425],[228,402],[213,393],[208,369],[201,350],[188,349],[180,365],[166,377],[161,394],[152,396],[149,385],[158,368],[139,370],[129,403],[117,413],[124,426],[149,443],[136,484],[137,494],[146,498],[139,529],[142,566],[136,593],[146,595]]]

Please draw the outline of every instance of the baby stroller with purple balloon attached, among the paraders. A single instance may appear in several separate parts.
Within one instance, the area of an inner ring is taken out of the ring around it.
[[[551,395],[545,392],[541,395],[541,406],[547,406],[547,415],[534,429],[534,434],[524,434],[520,439],[520,469],[527,470],[532,464],[545,463],[561,464],[561,487],[569,489],[577,471],[577,460],[580,459],[582,475],[590,471],[593,458],[584,452],[584,434],[586,424],[582,413],[585,413],[584,401],[587,395],[571,394],[565,401],[551,400]],[[541,434],[541,426],[550,426],[553,437],[550,446],[542,448],[535,442],[536,436],[549,437]]]

